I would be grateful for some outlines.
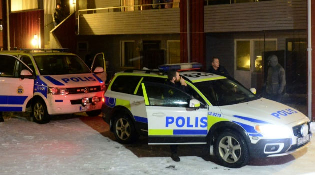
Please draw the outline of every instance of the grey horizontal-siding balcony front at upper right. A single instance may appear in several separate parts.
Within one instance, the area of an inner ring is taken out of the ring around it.
[[[204,7],[205,32],[307,28],[307,0],[273,0]]]

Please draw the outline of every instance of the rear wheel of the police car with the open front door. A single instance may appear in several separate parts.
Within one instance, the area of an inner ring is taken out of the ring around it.
[[[134,142],[138,136],[132,120],[126,114],[117,114],[113,123],[113,132],[119,143]]]

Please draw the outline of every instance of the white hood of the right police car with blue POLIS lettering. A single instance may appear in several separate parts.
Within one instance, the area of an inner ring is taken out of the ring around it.
[[[287,125],[308,119],[303,113],[292,107],[265,98],[220,106],[220,110],[225,116],[241,118],[256,123]]]

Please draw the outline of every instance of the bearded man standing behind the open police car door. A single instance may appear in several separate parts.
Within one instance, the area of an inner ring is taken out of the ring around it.
[[[170,70],[167,72],[168,80],[165,82],[165,84],[170,85],[172,87],[178,88],[184,92],[187,90],[187,83],[183,78],[179,76],[179,73],[175,70]],[[170,145],[170,152],[171,152],[171,159],[179,162],[180,158],[177,154],[178,145]]]

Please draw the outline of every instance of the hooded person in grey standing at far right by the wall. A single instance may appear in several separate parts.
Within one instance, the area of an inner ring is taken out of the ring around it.
[[[276,55],[271,55],[268,57],[269,69],[267,76],[267,98],[281,102],[282,93],[284,91],[285,81],[285,70],[279,64],[278,57]]]

